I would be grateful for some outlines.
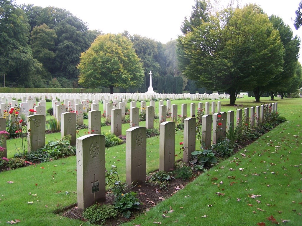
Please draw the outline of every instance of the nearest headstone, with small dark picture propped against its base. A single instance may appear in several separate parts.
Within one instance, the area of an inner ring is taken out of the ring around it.
[[[65,113],[67,114],[67,113]],[[91,134],[76,140],[78,211],[105,198],[105,136]]]

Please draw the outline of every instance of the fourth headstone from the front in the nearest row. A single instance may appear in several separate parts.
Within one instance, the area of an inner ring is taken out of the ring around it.
[[[186,118],[184,120],[184,154],[183,161],[190,162],[192,160],[191,152],[195,151],[196,147],[196,119]]]

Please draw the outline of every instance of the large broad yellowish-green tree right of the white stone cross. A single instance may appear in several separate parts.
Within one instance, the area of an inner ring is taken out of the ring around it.
[[[201,24],[179,36],[179,61],[186,77],[199,87],[225,91],[234,105],[241,90],[268,83],[282,70],[284,49],[258,6],[225,9],[222,16],[208,15],[207,7]]]

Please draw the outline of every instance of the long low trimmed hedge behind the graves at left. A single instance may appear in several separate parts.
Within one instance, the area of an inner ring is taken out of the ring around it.
[[[10,87],[0,88],[0,93],[104,93],[104,92],[105,89],[10,88]]]

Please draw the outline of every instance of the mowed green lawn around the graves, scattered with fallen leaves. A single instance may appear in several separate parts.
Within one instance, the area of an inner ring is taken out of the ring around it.
[[[220,101],[222,111],[236,110],[234,107],[225,106],[229,100]],[[253,98],[245,97],[238,99],[236,103],[243,107],[259,104],[253,101]],[[268,98],[262,98],[261,101],[271,102]],[[180,105],[191,102],[205,103],[206,101],[177,100],[172,101],[172,104],[178,104],[180,114]],[[281,219],[290,220],[287,225],[299,225],[302,221],[299,215],[302,213],[301,204],[299,204],[302,202],[302,193],[299,190],[302,188],[300,180],[302,178],[300,174],[302,150],[299,149],[301,127],[298,125],[301,123],[302,99],[277,99],[274,102],[278,102],[278,111],[288,119],[287,122],[265,134],[257,142],[230,159],[220,162],[188,184],[185,189],[178,191],[170,199],[152,208],[146,215],[141,215],[126,225],[154,225],[153,222],[161,222],[162,225],[256,225],[262,221],[270,225],[271,223],[266,218],[271,215],[279,222]],[[128,124],[124,124],[124,128],[125,134],[129,128]],[[110,127],[102,127],[102,132],[105,130],[109,131]],[[299,137],[294,137],[294,135]],[[60,134],[47,134],[46,137],[49,137],[47,140],[54,140],[60,138]],[[183,131],[178,131],[175,138],[177,154],[179,142],[182,139]],[[15,140],[8,142],[12,141],[15,142]],[[158,169],[158,147],[159,137],[147,139],[147,171]],[[12,157],[15,149],[8,153],[8,157]],[[178,156],[176,159],[181,157]],[[122,180],[125,180],[125,145],[106,149],[106,168],[110,168],[112,164],[117,165]],[[233,168],[234,171],[230,171],[229,168]],[[243,170],[239,171],[239,168]],[[14,181],[14,183],[9,184],[7,181]],[[218,187],[216,184],[220,181],[223,184]],[[89,225],[86,222],[53,214],[58,209],[76,203],[75,156],[2,172],[0,184],[1,225],[14,219],[20,219],[21,223],[18,224],[22,225]],[[218,196],[215,194],[217,192],[224,195]],[[37,194],[37,196],[32,196],[32,194]],[[250,198],[248,194],[261,195],[255,198],[260,203]],[[237,198],[240,198],[239,202]],[[28,204],[28,201],[34,203]],[[213,206],[208,207],[208,205]],[[174,212],[165,214],[169,218],[162,217],[162,212],[170,210],[170,206]],[[204,215],[207,217],[201,218]]]

